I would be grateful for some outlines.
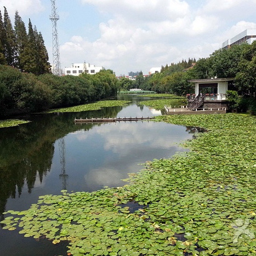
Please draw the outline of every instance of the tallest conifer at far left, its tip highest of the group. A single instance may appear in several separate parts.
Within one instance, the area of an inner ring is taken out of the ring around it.
[[[16,67],[18,63],[18,55],[17,55],[17,45],[15,33],[13,30],[12,22],[10,21],[9,14],[7,9],[4,7],[4,29],[6,33],[6,38],[4,38],[4,55],[7,60],[7,64],[9,66]]]

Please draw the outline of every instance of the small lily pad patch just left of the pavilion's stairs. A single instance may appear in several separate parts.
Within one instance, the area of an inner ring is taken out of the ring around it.
[[[149,107],[153,107],[153,109],[161,110],[164,109],[164,106],[184,106],[187,105],[187,99],[186,98],[180,98],[180,99],[161,99],[161,100],[145,100],[140,101],[138,104],[140,105],[146,105]]]

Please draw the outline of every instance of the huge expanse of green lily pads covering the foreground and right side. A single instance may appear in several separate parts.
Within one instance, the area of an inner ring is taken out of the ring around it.
[[[27,211],[5,213],[3,228],[69,241],[73,255],[255,255],[255,117],[155,120],[208,132],[186,143],[186,156],[148,162],[128,185],[41,196]]]

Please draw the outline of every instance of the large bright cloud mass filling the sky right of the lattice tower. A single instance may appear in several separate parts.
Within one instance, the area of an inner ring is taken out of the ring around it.
[[[69,62],[81,62],[83,56],[82,61],[113,69],[117,75],[130,70],[145,74],[153,66],[207,58],[226,39],[255,24],[256,0],[81,3],[93,5],[106,19],[99,23],[96,40],[77,35],[61,45],[61,61],[65,56],[72,59]]]

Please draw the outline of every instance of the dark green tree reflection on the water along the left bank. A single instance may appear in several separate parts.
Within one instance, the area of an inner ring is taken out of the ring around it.
[[[76,130],[89,130],[98,124],[77,126],[75,117],[116,117],[122,107],[108,107],[99,111],[61,113],[27,117],[31,123],[3,128],[0,133],[0,218],[8,198],[20,197],[24,185],[29,193],[37,177],[42,183],[54,155],[54,143]]]

